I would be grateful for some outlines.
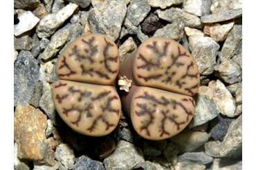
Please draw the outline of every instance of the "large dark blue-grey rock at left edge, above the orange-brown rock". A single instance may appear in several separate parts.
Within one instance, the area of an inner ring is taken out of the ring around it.
[[[26,105],[38,81],[39,66],[30,52],[21,50],[14,65],[14,106]],[[26,94],[26,95],[24,95]]]

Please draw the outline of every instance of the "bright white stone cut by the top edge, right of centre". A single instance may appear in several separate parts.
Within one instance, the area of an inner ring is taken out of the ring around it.
[[[188,0],[185,3],[184,11],[196,16],[203,16],[210,14],[210,6],[212,5],[212,0]]]

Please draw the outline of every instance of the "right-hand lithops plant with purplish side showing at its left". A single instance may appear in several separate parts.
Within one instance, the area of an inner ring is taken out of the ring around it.
[[[171,39],[144,41],[121,63],[118,83],[129,90],[122,91],[122,107],[143,138],[170,138],[194,116],[191,96],[199,89],[198,67],[190,52]]]

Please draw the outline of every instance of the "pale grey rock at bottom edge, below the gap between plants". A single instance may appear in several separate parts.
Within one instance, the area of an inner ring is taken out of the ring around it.
[[[116,145],[116,151],[105,158],[103,164],[106,170],[129,170],[140,167],[144,162],[143,152],[139,147],[125,140],[120,140]]]

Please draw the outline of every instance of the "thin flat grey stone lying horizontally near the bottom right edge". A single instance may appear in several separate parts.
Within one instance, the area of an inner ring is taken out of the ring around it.
[[[198,164],[208,164],[213,158],[205,152],[188,152],[178,157],[179,162],[190,161]]]

